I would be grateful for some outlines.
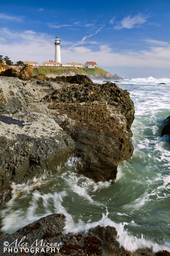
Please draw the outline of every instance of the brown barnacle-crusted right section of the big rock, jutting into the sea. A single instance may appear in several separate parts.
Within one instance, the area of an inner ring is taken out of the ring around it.
[[[96,182],[115,179],[118,164],[132,156],[129,94],[116,84],[88,83],[68,85],[43,99],[51,102],[55,121],[74,140],[79,172]]]

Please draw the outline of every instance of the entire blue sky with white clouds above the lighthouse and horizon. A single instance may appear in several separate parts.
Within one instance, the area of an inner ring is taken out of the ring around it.
[[[0,55],[95,61],[126,78],[170,78],[170,0],[1,1]]]

